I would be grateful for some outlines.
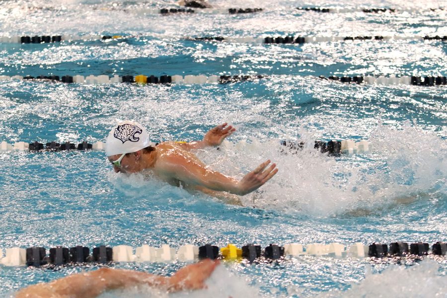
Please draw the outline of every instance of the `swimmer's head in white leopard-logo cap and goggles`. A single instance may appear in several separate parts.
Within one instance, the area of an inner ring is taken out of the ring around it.
[[[134,121],[123,121],[112,128],[107,136],[105,151],[116,172],[135,172],[138,159],[126,158],[127,153],[137,153],[149,145],[149,134],[143,126]]]

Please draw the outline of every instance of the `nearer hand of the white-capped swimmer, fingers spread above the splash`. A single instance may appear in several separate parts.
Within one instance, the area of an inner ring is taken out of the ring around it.
[[[276,163],[269,165],[270,159],[261,163],[254,171],[246,174],[238,183],[238,195],[243,196],[261,187],[278,172]]]

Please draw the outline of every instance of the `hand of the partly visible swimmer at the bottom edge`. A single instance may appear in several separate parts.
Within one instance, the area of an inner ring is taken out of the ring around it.
[[[210,277],[217,265],[219,265],[219,261],[206,259],[180,269],[169,278],[169,291],[205,288],[205,281]]]

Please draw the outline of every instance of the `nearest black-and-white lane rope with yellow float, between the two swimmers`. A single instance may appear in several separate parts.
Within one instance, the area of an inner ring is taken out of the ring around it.
[[[3,255],[0,250],[1,256]],[[200,259],[225,259],[233,261],[247,260],[248,262],[262,262],[271,260],[285,260],[286,256],[328,256],[335,258],[384,258],[384,257],[413,257],[418,258],[426,255],[445,256],[447,254],[447,244],[436,242],[430,246],[428,243],[418,242],[408,245],[407,242],[393,242],[387,244],[373,243],[364,245],[354,243],[346,247],[340,243],[310,243],[302,245],[290,243],[280,246],[270,244],[264,249],[260,245],[247,244],[238,248],[233,244],[219,248],[218,246],[206,244],[195,246],[186,244],[180,246],[178,251],[167,244],[160,248],[143,245],[134,249],[129,245],[118,245],[107,247],[100,245],[91,250],[85,246],[74,246],[71,248],[57,246],[50,248],[50,254],[44,247],[7,248],[6,254],[1,258],[4,266],[59,266],[76,265],[82,263],[109,264],[112,262],[191,262]]]

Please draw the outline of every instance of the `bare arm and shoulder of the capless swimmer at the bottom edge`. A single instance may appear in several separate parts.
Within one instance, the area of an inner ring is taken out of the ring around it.
[[[219,261],[210,259],[188,265],[171,277],[134,270],[101,268],[87,273],[72,274],[49,283],[20,290],[15,298],[94,298],[108,290],[149,286],[167,292],[205,288],[205,281]]]

